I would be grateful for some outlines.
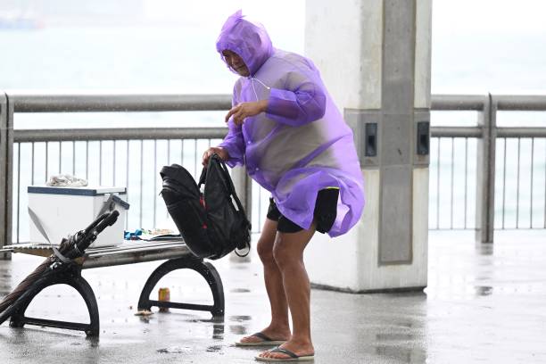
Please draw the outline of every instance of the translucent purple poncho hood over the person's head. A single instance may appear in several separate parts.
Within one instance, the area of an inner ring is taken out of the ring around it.
[[[259,23],[244,19],[241,10],[227,18],[216,41],[216,50],[222,60],[224,60],[222,54],[224,50],[238,54],[248,67],[251,76],[260,70],[261,65],[274,53],[266,29]],[[232,71],[235,72],[235,70]]]

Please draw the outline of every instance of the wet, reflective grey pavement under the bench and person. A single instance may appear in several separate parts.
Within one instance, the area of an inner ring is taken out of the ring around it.
[[[0,261],[0,297],[41,259]],[[159,262],[83,271],[95,291],[101,335],[54,328],[0,326],[0,363],[249,363],[258,348],[233,343],[265,327],[269,303],[261,266],[225,258],[226,316],[171,310],[136,317],[136,302]],[[342,262],[340,262],[342,264]],[[344,294],[313,290],[316,363],[546,363],[546,233],[507,232],[494,245],[472,233],[431,233],[424,292]],[[312,278],[312,277],[311,277]],[[211,302],[194,272],[163,278],[171,300]],[[155,288],[155,292],[159,288]],[[47,288],[29,316],[87,320],[68,286]]]

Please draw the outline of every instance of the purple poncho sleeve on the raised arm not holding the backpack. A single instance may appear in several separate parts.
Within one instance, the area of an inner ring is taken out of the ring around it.
[[[291,70],[285,74],[285,88],[271,88],[266,114],[271,120],[299,127],[318,120],[326,112],[326,95],[318,76]]]

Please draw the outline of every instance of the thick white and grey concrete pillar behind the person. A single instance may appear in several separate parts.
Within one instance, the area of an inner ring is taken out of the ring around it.
[[[314,285],[426,286],[432,0],[312,0],[305,54],[352,126],[367,205],[345,236],[316,234]]]

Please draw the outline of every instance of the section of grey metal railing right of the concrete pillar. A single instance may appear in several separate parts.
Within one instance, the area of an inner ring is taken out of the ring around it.
[[[492,242],[495,229],[546,228],[546,122],[542,123],[542,127],[501,127],[497,122],[504,112],[546,112],[546,96],[434,95],[431,111],[433,125],[434,112],[476,112],[477,118],[476,126],[431,128],[432,213],[429,226],[433,229],[452,229],[453,217],[463,215],[464,220],[459,227],[475,228],[479,242]],[[546,121],[546,113],[540,115]],[[462,150],[464,153],[462,159],[455,158],[455,155],[459,155],[455,152],[458,142],[459,152]],[[509,148],[512,142],[517,144],[515,150]],[[498,148],[497,144],[502,148]],[[521,145],[524,144],[530,145],[525,154],[530,162],[525,170],[521,161]],[[449,163],[445,163],[445,154],[451,154]],[[517,159],[510,161],[510,155],[517,155]],[[459,170],[464,170],[464,173],[455,172],[458,160],[462,161]],[[442,173],[445,169],[450,170],[447,183]],[[472,170],[471,178],[468,178],[469,170]],[[464,178],[458,185],[454,180],[460,175]],[[526,191],[523,186],[525,179],[528,180]],[[455,191],[456,186],[460,185],[464,186],[464,192],[459,194],[458,199]],[[473,198],[468,198],[469,192],[474,194]],[[525,192],[529,203],[522,200]],[[515,195],[515,201],[512,199],[507,203],[507,195]],[[476,202],[474,206],[473,200]],[[459,214],[454,212],[455,202],[463,205]],[[449,210],[445,209],[446,205]],[[525,210],[529,220],[526,226],[522,226],[520,220]],[[474,215],[473,226],[467,223],[468,215]],[[507,216],[514,219],[511,226],[506,224]],[[449,222],[445,219],[449,219]]]

